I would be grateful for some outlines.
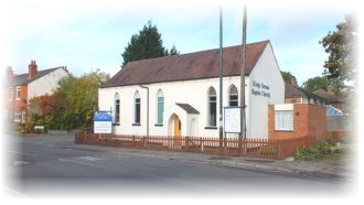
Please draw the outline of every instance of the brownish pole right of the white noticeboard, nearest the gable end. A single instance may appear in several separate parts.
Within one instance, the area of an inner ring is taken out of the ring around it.
[[[243,9],[243,43],[242,43],[242,67],[240,67],[240,138],[246,139],[245,120],[245,69],[246,69],[246,6]]]

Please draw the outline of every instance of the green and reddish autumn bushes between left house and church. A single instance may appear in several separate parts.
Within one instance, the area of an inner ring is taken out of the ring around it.
[[[62,130],[89,128],[97,109],[98,87],[107,79],[109,75],[98,69],[81,77],[68,75],[62,78],[53,95],[30,100],[30,118],[26,129],[22,129],[31,132],[35,125]]]

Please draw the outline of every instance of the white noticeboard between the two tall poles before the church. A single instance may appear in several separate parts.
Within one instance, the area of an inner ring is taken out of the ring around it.
[[[242,107],[224,107],[225,133],[240,133]]]

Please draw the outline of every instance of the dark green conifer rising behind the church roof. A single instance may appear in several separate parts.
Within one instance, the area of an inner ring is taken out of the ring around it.
[[[162,57],[167,55],[179,54],[175,46],[169,52],[163,46],[161,34],[158,32],[156,25],[152,25],[151,21],[143,26],[139,34],[131,36],[130,42],[125,47],[125,52],[121,54],[124,62],[122,66],[132,61]]]

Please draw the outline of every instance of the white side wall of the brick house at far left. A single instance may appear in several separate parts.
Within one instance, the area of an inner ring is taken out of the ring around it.
[[[28,101],[33,97],[52,94],[53,89],[57,87],[60,79],[67,75],[66,71],[58,68],[28,84]]]

